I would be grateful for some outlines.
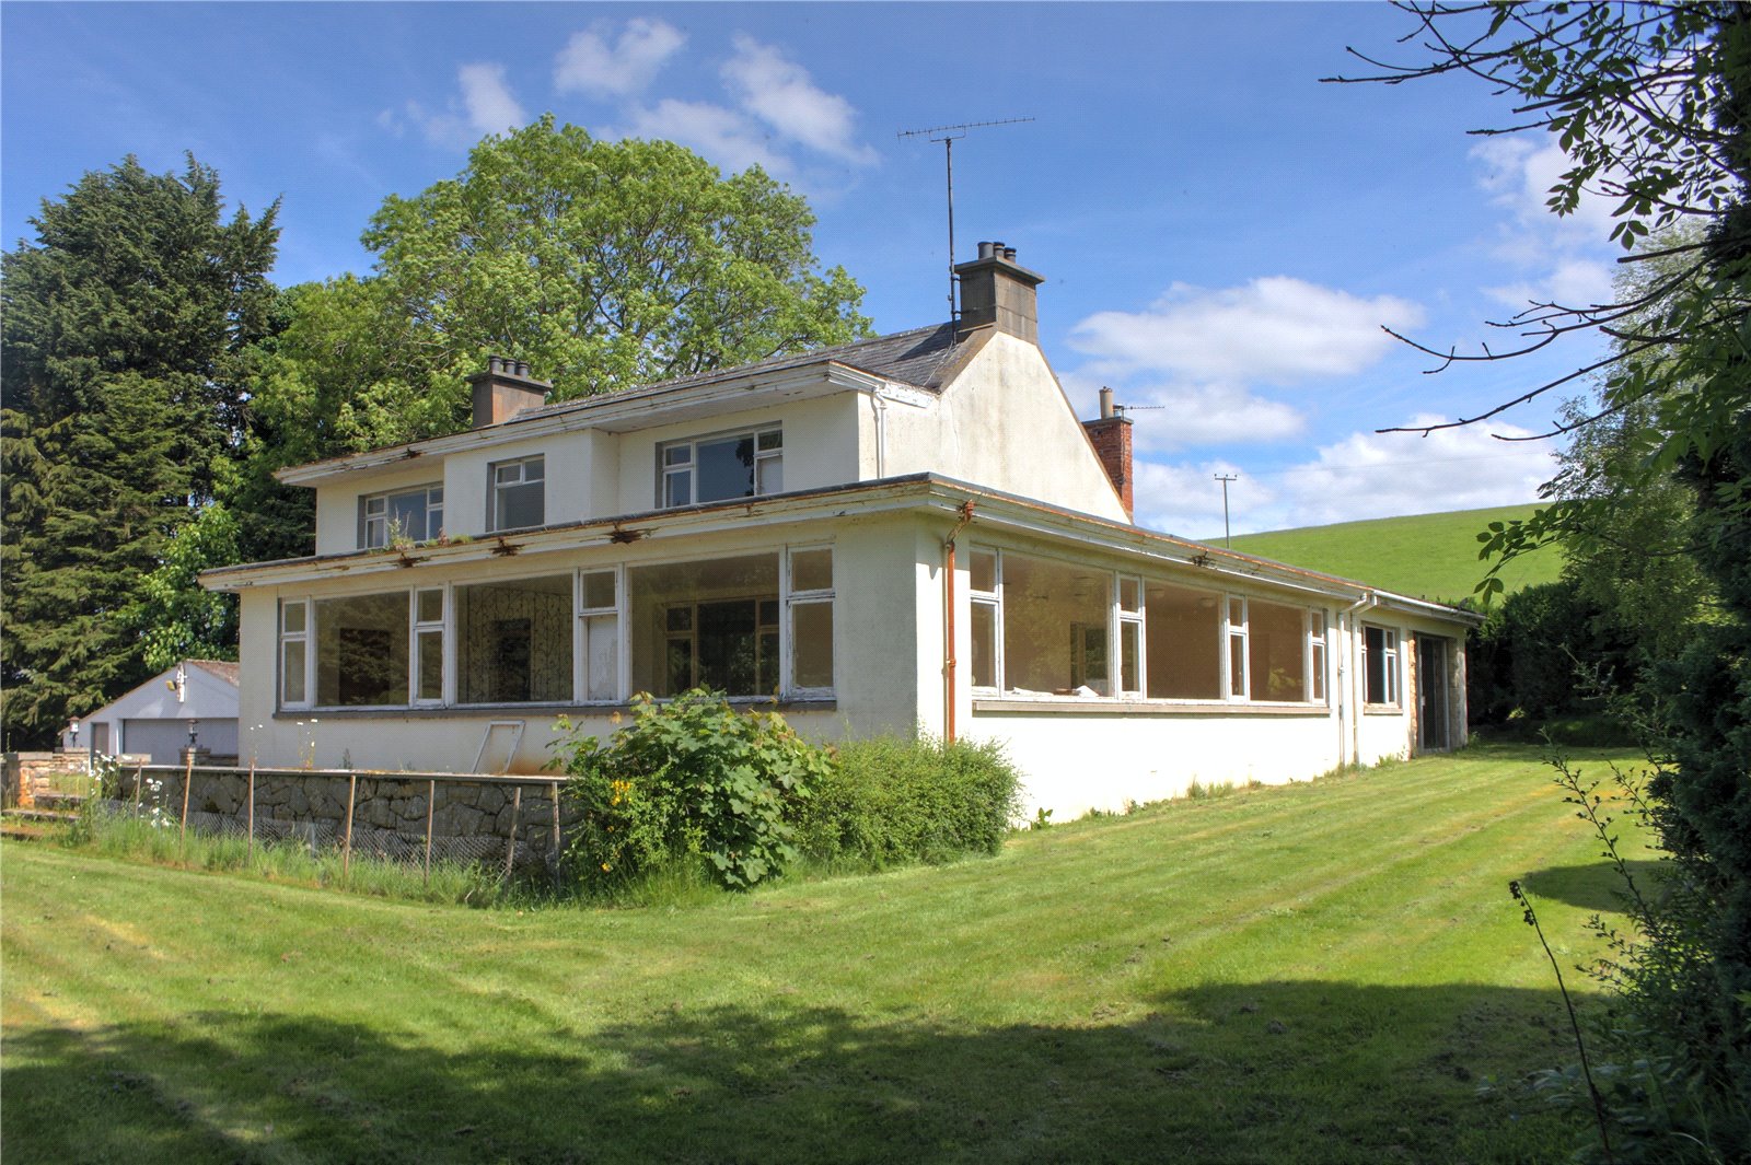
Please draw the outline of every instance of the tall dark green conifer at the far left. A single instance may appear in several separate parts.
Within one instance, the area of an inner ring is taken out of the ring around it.
[[[193,156],[163,175],[128,157],[0,257],[7,747],[145,675],[140,581],[229,472],[278,206],[222,212]]]

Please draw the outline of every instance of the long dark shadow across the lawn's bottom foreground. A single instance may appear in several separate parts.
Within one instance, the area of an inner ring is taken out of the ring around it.
[[[678,1002],[464,1048],[229,1011],[14,1030],[4,1139],[19,1165],[1487,1162],[1560,1158],[1576,1135],[1518,1090],[1478,1093],[1567,1058],[1553,992],[1257,983],[1154,1006],[968,1029]]]

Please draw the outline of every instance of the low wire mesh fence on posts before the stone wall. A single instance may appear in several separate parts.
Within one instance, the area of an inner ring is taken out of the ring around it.
[[[102,808],[182,834],[434,862],[557,869],[574,813],[564,777],[214,764],[110,764]]]

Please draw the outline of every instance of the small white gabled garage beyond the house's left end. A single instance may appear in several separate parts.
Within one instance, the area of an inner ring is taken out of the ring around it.
[[[236,756],[238,665],[184,659],[61,731],[67,750],[149,756],[175,764],[194,733],[214,756]]]

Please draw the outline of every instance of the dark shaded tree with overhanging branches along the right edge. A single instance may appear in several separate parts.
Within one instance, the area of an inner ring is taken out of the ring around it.
[[[1373,79],[1464,72],[1513,94],[1520,121],[1495,131],[1555,133],[1571,159],[1551,210],[1572,212],[1586,192],[1613,198],[1613,236],[1646,264],[1611,304],[1530,304],[1508,322],[1525,339],[1515,352],[1448,359],[1502,359],[1578,332],[1609,341],[1602,360],[1455,422],[1600,378],[1597,408],[1557,427],[1578,434],[1557,500],[1483,535],[1487,555],[1572,537],[1586,551],[1581,570],[1653,582],[1651,596],[1618,588],[1630,603],[1684,586],[1658,579],[1639,551],[1688,556],[1707,579],[1711,595],[1688,598],[1712,596],[1711,617],[1674,616],[1674,635],[1649,637],[1656,652],[1679,654],[1656,654],[1639,694],[1667,726],[1651,743],[1670,764],[1649,794],[1679,885],[1674,913],[1641,931],[1646,966],[1690,966],[1700,948],[1709,973],[1656,976],[1658,1006],[1632,978],[1607,1037],[1683,1083],[1684,1095],[1649,1092],[1632,1114],[1662,1160],[1737,1160],[1751,1135],[1751,5],[1401,7],[1429,56]],[[1693,238],[1649,243],[1686,220],[1700,226]],[[1683,518],[1658,528],[1674,511]],[[1635,539],[1648,542],[1627,544]],[[1607,553],[1613,541],[1621,546]]]

